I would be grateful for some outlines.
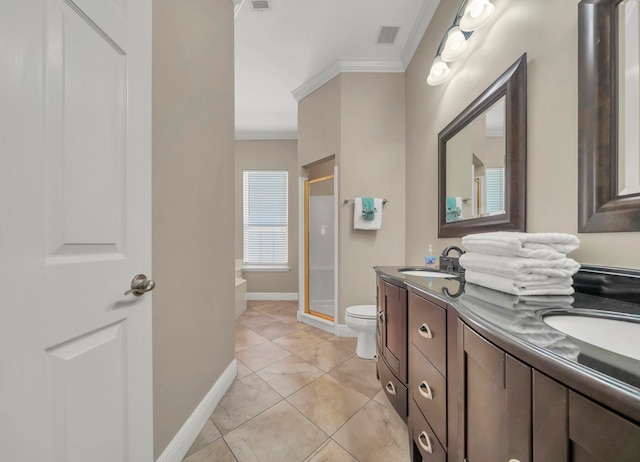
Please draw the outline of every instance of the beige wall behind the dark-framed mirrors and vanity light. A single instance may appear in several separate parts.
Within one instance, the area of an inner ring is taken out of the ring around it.
[[[431,60],[460,2],[441,0],[406,72],[406,262],[419,264],[438,239],[437,139],[440,132],[524,52],[528,55],[527,231],[578,231],[578,1],[495,0],[496,15],[476,31],[453,78],[426,84]],[[640,268],[638,233],[581,234],[582,263]]]

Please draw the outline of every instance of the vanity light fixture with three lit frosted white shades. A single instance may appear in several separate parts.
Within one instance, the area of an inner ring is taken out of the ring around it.
[[[451,76],[447,63],[462,58],[467,49],[467,40],[473,31],[489,22],[494,6],[490,0],[462,0],[451,27],[440,40],[436,56],[431,63],[427,83],[435,86],[446,82]]]

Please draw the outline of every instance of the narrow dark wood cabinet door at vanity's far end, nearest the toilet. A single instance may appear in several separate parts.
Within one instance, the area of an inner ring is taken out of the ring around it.
[[[407,289],[382,283],[383,356],[398,379],[407,383]]]

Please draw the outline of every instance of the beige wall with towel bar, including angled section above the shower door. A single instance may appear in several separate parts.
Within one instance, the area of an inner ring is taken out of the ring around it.
[[[404,115],[399,73],[341,74],[298,107],[298,164],[336,154],[339,323],[348,306],[375,303],[373,266],[404,263]],[[389,200],[381,230],[353,229],[353,203],[343,201],[361,196]]]

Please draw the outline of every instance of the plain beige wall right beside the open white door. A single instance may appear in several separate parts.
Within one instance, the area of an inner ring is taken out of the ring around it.
[[[157,458],[234,355],[233,3],[153,2]]]

